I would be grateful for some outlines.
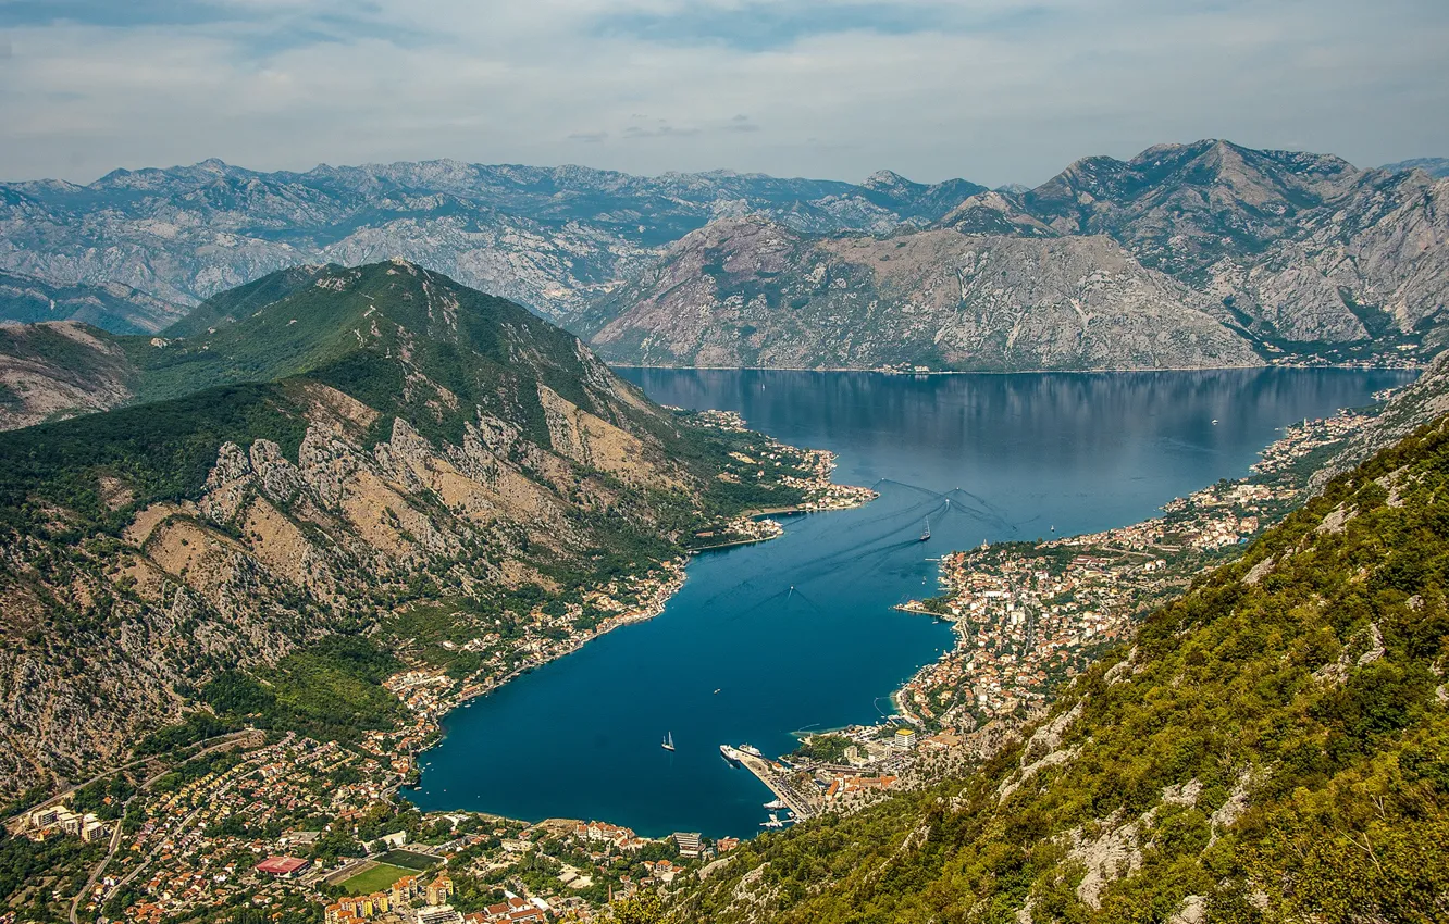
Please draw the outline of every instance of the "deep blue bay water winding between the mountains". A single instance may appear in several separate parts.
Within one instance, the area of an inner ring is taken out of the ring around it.
[[[856,510],[784,517],[777,540],[707,552],[665,613],[597,639],[443,721],[425,810],[600,818],[645,836],[751,836],[771,794],[719,744],[874,721],[952,643],[891,610],[982,540],[1094,532],[1246,474],[1285,424],[1371,403],[1408,374],[1252,369],[949,375],[623,369],[653,400],[740,411],[839,455]],[[1216,420],[1216,423],[1214,423]],[[949,500],[949,504],[948,504]],[[930,518],[932,540],[919,536]],[[716,689],[719,692],[716,692]],[[672,733],[677,750],[659,746]]]

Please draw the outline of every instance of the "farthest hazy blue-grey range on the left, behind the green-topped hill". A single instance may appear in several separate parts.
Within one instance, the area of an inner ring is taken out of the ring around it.
[[[0,184],[0,268],[120,282],[191,306],[296,264],[401,255],[556,317],[714,217],[761,213],[813,233],[887,233],[930,224],[980,190],[884,174],[852,185],[456,161],[268,174],[213,159],[114,171],[84,187]]]

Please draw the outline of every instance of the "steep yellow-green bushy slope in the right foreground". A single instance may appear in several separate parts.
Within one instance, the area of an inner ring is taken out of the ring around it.
[[[1445,920],[1446,524],[1440,419],[1153,613],[966,779],[767,834],[671,920]]]

